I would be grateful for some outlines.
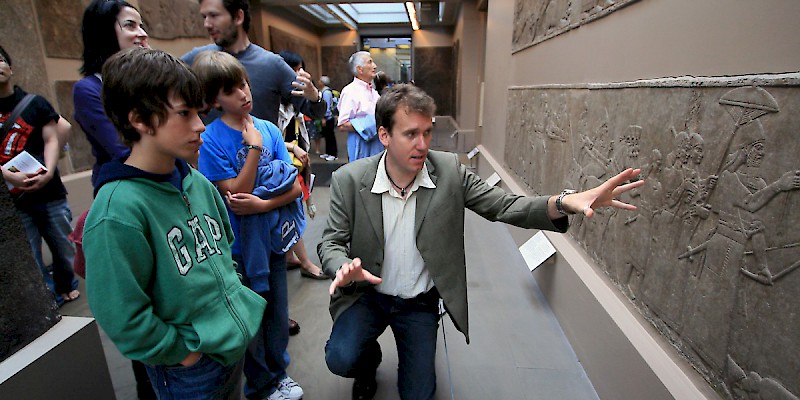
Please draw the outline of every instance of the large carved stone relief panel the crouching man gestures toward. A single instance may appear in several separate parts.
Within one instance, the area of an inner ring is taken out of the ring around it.
[[[729,399],[800,394],[800,73],[509,90],[505,158],[534,193],[625,168],[636,212],[569,234]]]

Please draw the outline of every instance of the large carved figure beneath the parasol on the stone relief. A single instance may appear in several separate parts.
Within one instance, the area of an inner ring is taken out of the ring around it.
[[[739,279],[744,275],[768,285],[775,279],[765,254],[766,226],[754,214],[777,194],[800,189],[800,170],[787,171],[770,184],[759,176],[766,141],[760,121],[747,123],[736,135],[735,151],[723,166],[711,201],[719,215],[717,229],[711,238],[690,247],[684,254],[706,253],[693,294],[695,301],[689,313],[692,319],[685,331],[686,339],[718,367],[723,366],[727,355],[728,341],[722,338],[729,335]],[[746,248],[755,256],[751,262],[744,259]]]

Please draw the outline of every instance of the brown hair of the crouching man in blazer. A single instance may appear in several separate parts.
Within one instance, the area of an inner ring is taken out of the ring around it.
[[[394,114],[400,106],[405,107],[407,112],[417,112],[428,117],[433,117],[436,113],[436,103],[425,91],[414,85],[398,84],[378,99],[375,105],[376,126],[386,128],[391,134],[395,122]]]

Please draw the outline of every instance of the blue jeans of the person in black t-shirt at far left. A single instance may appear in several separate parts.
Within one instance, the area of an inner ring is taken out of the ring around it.
[[[75,245],[69,241],[72,233],[72,211],[67,200],[55,200],[48,203],[17,206],[17,215],[25,227],[28,243],[33,251],[36,265],[42,271],[47,287],[62,304],[61,294],[78,288],[78,279],[72,271],[72,260],[75,258]],[[42,239],[53,255],[53,274],[47,270],[42,260]]]

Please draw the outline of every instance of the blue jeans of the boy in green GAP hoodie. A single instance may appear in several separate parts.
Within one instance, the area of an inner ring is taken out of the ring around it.
[[[159,400],[238,400],[242,361],[224,366],[205,354],[194,365],[146,365]]]

